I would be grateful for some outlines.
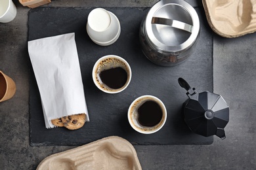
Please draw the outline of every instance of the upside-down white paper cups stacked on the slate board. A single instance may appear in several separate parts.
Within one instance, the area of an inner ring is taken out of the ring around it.
[[[121,33],[116,15],[101,8],[93,9],[89,13],[86,28],[91,40],[101,46],[113,44]]]

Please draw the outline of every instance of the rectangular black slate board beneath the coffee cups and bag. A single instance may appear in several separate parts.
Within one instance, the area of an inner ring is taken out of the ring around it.
[[[70,131],[64,127],[46,129],[39,90],[30,65],[30,144],[81,145],[117,135],[132,144],[211,144],[213,137],[202,137],[188,129],[182,118],[182,103],[188,99],[177,82],[185,78],[198,92],[213,92],[213,37],[203,9],[200,16],[200,39],[188,60],[175,67],[160,67],[150,62],[140,50],[139,27],[148,8],[105,8],[119,18],[121,35],[111,46],[98,46],[87,35],[87,16],[94,8],[39,7],[29,12],[28,41],[75,33],[85,99],[91,122],[81,129]],[[203,17],[202,17],[203,16]],[[93,84],[91,71],[96,60],[108,54],[125,58],[131,65],[132,80],[126,90],[108,94]],[[47,82],[46,82],[47,83]],[[143,135],[129,126],[127,110],[140,95],[155,95],[167,108],[167,122],[157,133]]]

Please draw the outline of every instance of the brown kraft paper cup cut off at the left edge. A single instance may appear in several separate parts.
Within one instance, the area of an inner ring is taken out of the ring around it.
[[[16,92],[15,82],[0,71],[0,102],[11,99]]]

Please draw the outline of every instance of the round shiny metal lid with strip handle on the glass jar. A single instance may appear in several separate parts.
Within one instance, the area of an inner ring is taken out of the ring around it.
[[[196,10],[183,0],[162,0],[145,20],[150,44],[161,52],[181,52],[196,41],[200,22]]]

